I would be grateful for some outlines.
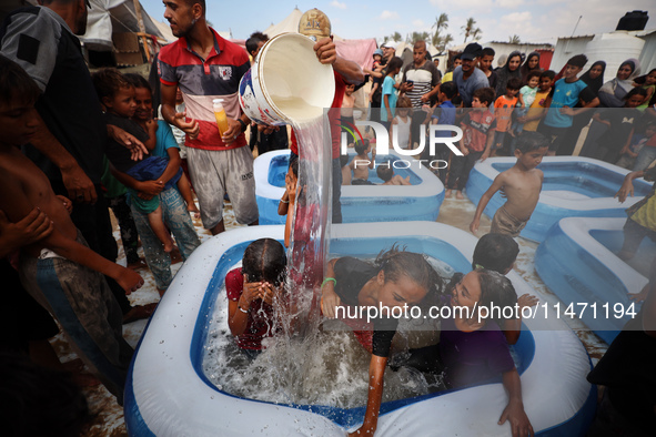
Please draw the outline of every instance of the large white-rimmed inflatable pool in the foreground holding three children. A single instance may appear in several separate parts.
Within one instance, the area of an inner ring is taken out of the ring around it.
[[[467,272],[476,238],[427,222],[333,226],[331,252],[371,256],[395,242]],[[396,235],[390,237],[390,235]],[[223,278],[245,246],[261,237],[282,240],[283,226],[240,228],[202,244],[182,266],[151,318],[134,356],[124,415],[131,436],[314,435],[343,436],[362,421],[364,407],[281,405],[249,400],[214,386],[202,360],[213,307]],[[533,291],[511,273],[517,294]],[[596,389],[585,348],[553,317],[526,321],[515,354],[522,363],[524,406],[539,435],[584,435],[594,415]],[[376,436],[507,436],[496,423],[506,403],[499,383],[385,403]]]

